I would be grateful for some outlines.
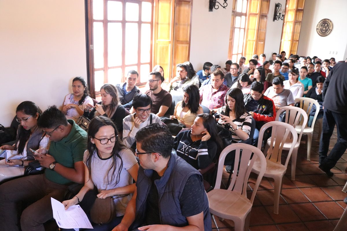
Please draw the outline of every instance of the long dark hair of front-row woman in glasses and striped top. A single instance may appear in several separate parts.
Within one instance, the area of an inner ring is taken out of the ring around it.
[[[87,168],[89,170],[89,175],[91,176],[91,161],[92,161],[92,156],[94,155],[94,152],[97,154],[98,153],[98,149],[96,148],[96,145],[92,143],[92,138],[95,138],[95,134],[99,131],[100,127],[103,126],[112,126],[115,129],[115,135],[117,137],[117,141],[115,142],[115,146],[113,147],[112,150],[112,159],[113,159],[113,163],[111,168],[108,170],[107,173],[107,181],[108,181],[108,185],[112,183],[112,181],[115,181],[116,184],[119,183],[120,180],[120,172],[123,168],[123,160],[121,159],[121,157],[119,156],[118,152],[124,148],[126,148],[126,146],[123,144],[123,142],[121,141],[119,134],[118,134],[118,130],[116,125],[112,122],[112,120],[108,117],[105,116],[98,116],[98,117],[94,117],[88,127],[88,140],[87,140],[87,150],[88,150],[88,156],[87,156]],[[116,168],[117,166],[119,166],[118,168],[118,172],[117,175],[115,175],[116,172]],[[100,168],[102,168],[103,166],[99,166]],[[111,177],[109,177],[110,175],[110,171],[113,168],[113,172],[111,172]],[[111,178],[111,179],[110,179]]]

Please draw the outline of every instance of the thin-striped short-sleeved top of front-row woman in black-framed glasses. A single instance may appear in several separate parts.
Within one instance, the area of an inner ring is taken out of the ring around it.
[[[84,165],[86,165],[88,154],[89,152],[86,150],[83,156]],[[111,156],[109,158],[102,159],[99,157],[96,150],[91,157],[91,178],[96,188],[98,188],[99,193],[101,190],[108,190],[133,184],[133,178],[127,170],[132,168],[137,163],[134,153],[130,149],[125,148],[120,150],[118,154],[123,161],[123,167],[120,171],[118,184],[116,184],[116,177],[120,167],[120,159],[116,158],[117,166],[116,171],[114,172],[114,179],[109,183],[112,178],[113,170],[115,169],[115,166],[112,167],[113,157]],[[124,215],[125,208],[127,207],[131,197],[132,194],[113,196],[117,216]]]

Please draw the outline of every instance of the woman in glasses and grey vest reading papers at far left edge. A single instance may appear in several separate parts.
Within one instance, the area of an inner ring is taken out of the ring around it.
[[[41,128],[37,126],[37,119],[40,118],[42,111],[32,101],[20,103],[16,109],[17,121],[20,123],[17,130],[16,142],[13,146],[2,145],[1,150],[14,150],[12,154],[17,157],[9,160],[1,160],[2,166],[15,166],[11,168],[0,168],[0,183],[12,177],[24,175],[25,168],[28,166],[29,156],[32,156],[30,149],[47,148],[49,139],[45,136]],[[20,157],[20,159],[18,159]],[[32,158],[34,160],[34,158]],[[19,167],[18,167],[19,166]]]

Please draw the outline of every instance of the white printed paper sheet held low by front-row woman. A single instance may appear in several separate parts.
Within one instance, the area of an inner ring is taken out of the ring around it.
[[[60,228],[75,229],[89,228],[93,229],[92,224],[88,220],[87,215],[79,205],[73,205],[65,210],[64,205],[51,197],[53,218]]]

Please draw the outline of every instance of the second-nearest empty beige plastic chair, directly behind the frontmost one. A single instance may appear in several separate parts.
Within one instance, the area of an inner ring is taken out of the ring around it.
[[[272,121],[264,124],[259,131],[259,140],[258,140],[258,148],[260,149],[262,146],[262,140],[264,136],[264,132],[268,130],[268,128],[272,128],[272,134],[269,138],[270,143],[265,144],[264,154],[266,158],[266,170],[265,177],[270,177],[274,179],[274,201],[273,201],[273,213],[278,214],[278,206],[280,200],[280,193],[282,190],[282,180],[283,176],[287,171],[287,166],[289,159],[291,157],[291,153],[293,152],[294,146],[297,142],[298,134],[295,131],[295,128],[290,124]],[[288,156],[284,165],[281,163],[281,154],[283,150],[283,146],[285,145],[285,141],[289,136],[292,136],[292,142],[290,145],[290,149],[288,152]],[[275,137],[281,137],[282,139],[275,139]],[[262,169],[262,164],[255,162],[252,172],[259,174]]]

